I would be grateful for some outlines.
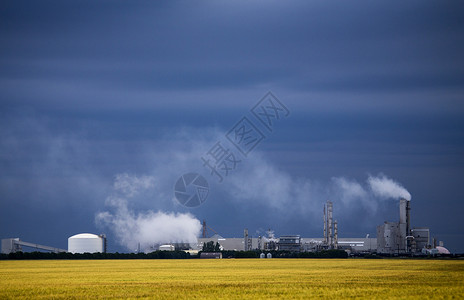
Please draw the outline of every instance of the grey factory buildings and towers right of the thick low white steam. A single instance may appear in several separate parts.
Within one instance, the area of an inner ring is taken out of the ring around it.
[[[400,199],[399,221],[385,222],[377,226],[377,237],[340,238],[338,223],[333,219],[333,203],[327,201],[323,209],[323,236],[305,238],[299,235],[286,235],[276,238],[271,230],[265,236],[250,237],[244,230],[243,238],[224,238],[217,233],[206,237],[207,226],[203,221],[203,234],[198,239],[196,248],[202,249],[207,242],[218,243],[221,250],[285,250],[291,252],[317,252],[321,250],[340,249],[356,254],[377,253],[381,255],[424,255],[450,254],[438,242],[430,237],[428,227],[411,227],[411,204],[409,200]]]

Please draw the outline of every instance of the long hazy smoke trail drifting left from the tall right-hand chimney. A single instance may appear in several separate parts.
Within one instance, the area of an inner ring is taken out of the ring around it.
[[[411,198],[404,187],[383,174],[369,175],[365,183],[345,177],[333,177],[330,182],[295,178],[279,170],[259,152],[246,160],[236,175],[225,179],[221,188],[230,195],[231,201],[241,206],[258,205],[286,217],[310,214],[316,220],[326,200],[349,210],[361,207],[375,213],[384,200]]]

